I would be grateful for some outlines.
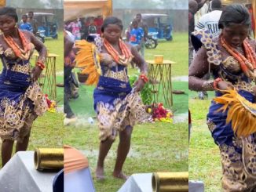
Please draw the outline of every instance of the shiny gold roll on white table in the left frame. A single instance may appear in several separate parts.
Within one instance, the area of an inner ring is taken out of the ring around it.
[[[63,148],[38,148],[34,153],[36,170],[64,168]]]

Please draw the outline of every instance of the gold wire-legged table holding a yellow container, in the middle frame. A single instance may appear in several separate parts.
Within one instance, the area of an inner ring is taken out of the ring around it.
[[[148,79],[154,103],[166,103],[166,107],[173,106],[173,93],[171,83],[171,65],[174,61],[163,60],[163,63],[155,63],[154,60],[146,60],[148,63]],[[160,92],[162,93],[160,99]]]

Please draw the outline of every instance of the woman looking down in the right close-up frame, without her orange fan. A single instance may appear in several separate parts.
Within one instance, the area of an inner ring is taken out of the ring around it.
[[[225,93],[220,90],[236,89],[240,96],[255,103],[256,55],[255,42],[247,38],[250,25],[250,14],[243,5],[229,5],[221,14],[218,37],[211,38],[207,31],[194,32],[195,49],[202,47],[189,67],[189,89],[215,90],[215,96]],[[208,71],[214,75],[214,81],[203,80]],[[207,125],[221,150],[222,187],[225,191],[255,191],[256,133],[249,136],[234,133],[234,125],[226,124],[228,111],[219,111],[221,107],[220,103],[212,101]]]

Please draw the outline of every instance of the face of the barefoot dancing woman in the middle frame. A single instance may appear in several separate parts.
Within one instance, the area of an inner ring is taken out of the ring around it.
[[[104,28],[104,38],[110,43],[118,42],[119,38],[121,38],[121,34],[122,29],[117,24],[108,24],[108,26]]]

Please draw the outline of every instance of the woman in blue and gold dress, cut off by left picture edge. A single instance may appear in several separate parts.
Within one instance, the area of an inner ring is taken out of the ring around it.
[[[46,98],[38,85],[46,60],[46,47],[28,31],[17,28],[16,10],[0,9],[0,136],[2,166],[11,158],[13,143],[16,152],[27,150],[31,125],[47,109]],[[29,59],[34,48],[39,57],[31,69]]]

